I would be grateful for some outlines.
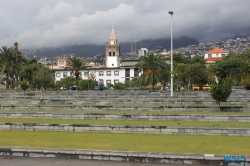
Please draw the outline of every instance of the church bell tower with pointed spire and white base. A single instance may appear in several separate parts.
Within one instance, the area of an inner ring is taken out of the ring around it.
[[[109,41],[106,43],[105,61],[108,68],[120,67],[120,43],[116,39],[114,27],[111,30]]]

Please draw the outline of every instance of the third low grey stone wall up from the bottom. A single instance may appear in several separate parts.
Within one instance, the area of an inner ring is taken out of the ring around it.
[[[154,115],[154,114],[61,114],[61,113],[0,113],[2,118],[94,119],[94,120],[158,120],[250,122],[250,116],[237,115]]]

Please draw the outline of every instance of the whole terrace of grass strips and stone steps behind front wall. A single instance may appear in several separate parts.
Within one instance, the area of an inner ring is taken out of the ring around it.
[[[250,155],[247,91],[233,91],[223,112],[207,91],[184,92],[182,103],[149,91],[47,92],[44,104],[35,92],[1,94],[1,146]]]

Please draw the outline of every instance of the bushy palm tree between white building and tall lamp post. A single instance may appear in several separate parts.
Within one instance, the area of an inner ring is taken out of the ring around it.
[[[168,65],[161,54],[155,55],[153,52],[150,52],[145,56],[141,56],[136,67],[139,68],[139,72],[143,72],[140,76],[142,84],[152,84],[152,89],[154,89],[156,80],[166,81],[167,79]]]

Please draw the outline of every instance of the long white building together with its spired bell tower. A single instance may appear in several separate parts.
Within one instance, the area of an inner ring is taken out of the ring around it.
[[[138,60],[123,60],[120,63],[120,42],[117,41],[115,30],[112,28],[109,40],[106,43],[105,67],[88,67],[80,71],[82,79],[88,79],[94,75],[96,80],[103,79],[104,85],[118,82],[125,83],[137,76],[138,68],[135,64]],[[74,76],[69,69],[54,69],[55,81],[59,81],[67,76]]]

